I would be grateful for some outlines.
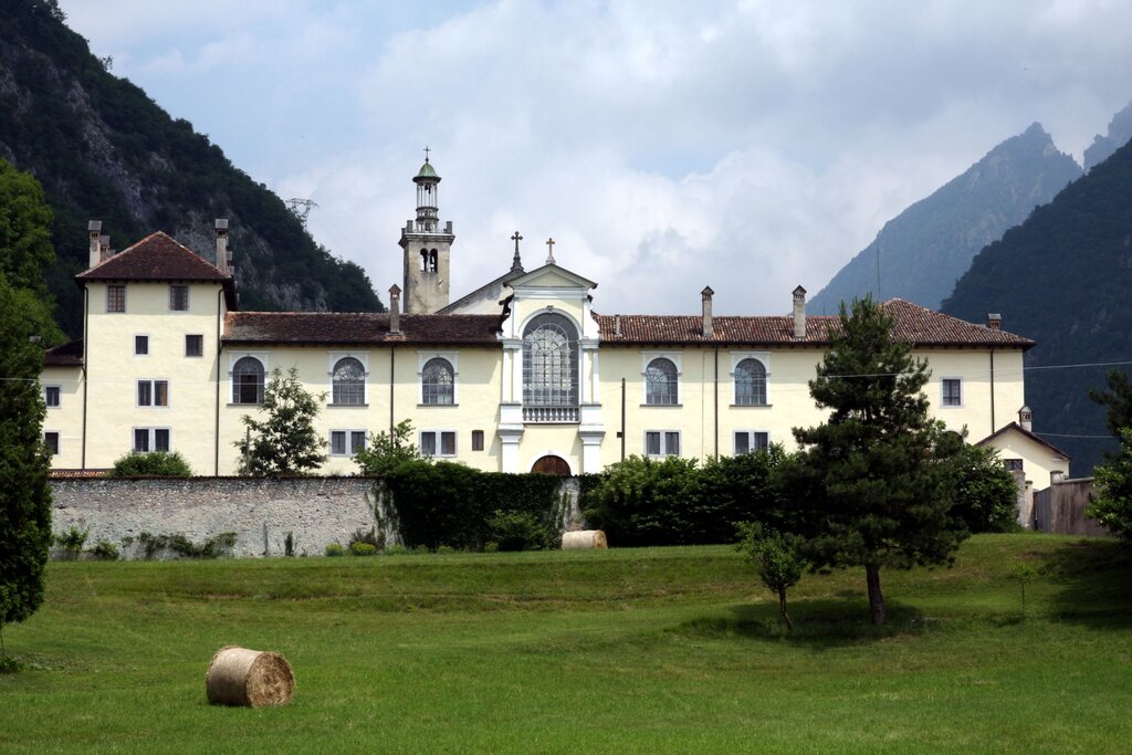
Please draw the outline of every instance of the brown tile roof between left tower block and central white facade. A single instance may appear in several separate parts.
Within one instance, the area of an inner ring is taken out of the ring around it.
[[[389,335],[389,315],[375,312],[229,312],[224,343],[419,343],[498,345],[499,315],[402,315]]]

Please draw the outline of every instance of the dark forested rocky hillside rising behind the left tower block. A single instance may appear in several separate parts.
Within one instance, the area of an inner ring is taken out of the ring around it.
[[[92,218],[118,249],[162,230],[209,256],[213,220],[228,217],[242,308],[384,309],[358,265],[315,243],[188,121],[111,75],[54,2],[0,0],[0,157],[35,175],[54,212],[48,285],[66,332],[82,331],[72,278]]]

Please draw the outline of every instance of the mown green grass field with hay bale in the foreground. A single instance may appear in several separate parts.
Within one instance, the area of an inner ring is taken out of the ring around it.
[[[1021,617],[1019,561],[1044,574]],[[57,563],[7,627],[2,752],[1129,752],[1132,564],[980,537],[954,568],[807,575],[797,629],[728,548]],[[281,709],[209,706],[221,645]]]

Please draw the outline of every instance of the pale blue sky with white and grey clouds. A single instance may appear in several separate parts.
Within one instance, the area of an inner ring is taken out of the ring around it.
[[[60,0],[384,292],[432,148],[453,292],[557,240],[602,312],[777,314],[1041,122],[1080,162],[1132,100],[1132,3]],[[283,8],[283,10],[281,10]]]

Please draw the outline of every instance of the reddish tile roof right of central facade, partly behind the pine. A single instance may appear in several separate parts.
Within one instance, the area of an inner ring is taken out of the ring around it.
[[[893,334],[917,346],[1004,346],[1029,349],[1034,341],[1006,331],[993,331],[983,325],[941,315],[900,299],[886,301],[885,311],[893,318]],[[792,316],[714,317],[712,337],[703,337],[703,318],[696,315],[621,315],[620,335],[615,335],[614,316],[594,315],[602,344],[746,344],[826,346],[830,334],[840,327],[831,316],[808,316],[806,337],[794,337]]]

